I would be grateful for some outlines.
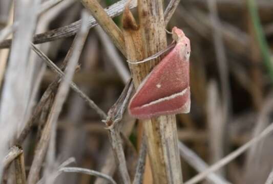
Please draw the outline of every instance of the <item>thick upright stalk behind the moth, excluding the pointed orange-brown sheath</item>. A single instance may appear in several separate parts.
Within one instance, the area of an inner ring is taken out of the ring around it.
[[[139,0],[138,14],[144,57],[166,48],[162,1]],[[151,62],[152,67],[160,58]],[[149,68],[150,63],[144,63]],[[150,69],[150,68],[149,68]],[[155,183],[183,183],[174,115],[160,116],[144,122],[148,152]]]

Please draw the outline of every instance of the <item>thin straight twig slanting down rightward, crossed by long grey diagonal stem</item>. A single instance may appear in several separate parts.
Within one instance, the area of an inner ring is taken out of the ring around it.
[[[51,68],[51,70],[53,72],[55,72],[56,74],[58,74],[61,77],[64,77],[64,73],[60,70],[60,68],[58,66],[56,66],[56,64],[54,64],[43,52],[41,52],[33,43],[31,43],[31,47],[32,50],[41,58],[43,59],[48,66]],[[101,110],[85,93],[83,93],[78,86],[74,83],[71,82],[70,86],[72,87],[72,89],[79,94],[79,96],[88,103],[88,105],[93,108],[102,119],[106,119],[106,113],[103,112],[103,110]]]

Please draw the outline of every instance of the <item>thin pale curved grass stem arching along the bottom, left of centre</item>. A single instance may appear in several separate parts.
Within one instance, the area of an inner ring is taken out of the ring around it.
[[[83,174],[89,174],[92,176],[96,176],[96,177],[101,177],[103,179],[108,180],[109,182],[111,182],[112,184],[117,184],[116,181],[111,177],[108,176],[106,174],[94,171],[94,170],[90,170],[90,169],[85,169],[85,168],[77,168],[77,167],[64,167],[59,169],[60,172],[77,172],[77,173],[83,173]]]

